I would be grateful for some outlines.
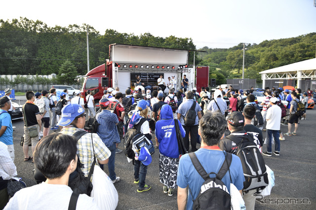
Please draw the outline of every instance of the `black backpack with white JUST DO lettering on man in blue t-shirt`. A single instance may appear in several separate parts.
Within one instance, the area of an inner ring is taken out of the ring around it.
[[[225,155],[226,153],[226,155]],[[207,173],[194,152],[189,153],[194,168],[198,174],[204,179],[200,192],[197,198],[193,201],[193,210],[230,210],[231,209],[231,195],[227,186],[222,181],[224,175],[229,172],[229,167],[232,163],[232,154],[224,152],[225,160],[221,169],[215,173]],[[230,172],[229,172],[230,173]],[[209,175],[214,174],[211,178]],[[231,176],[231,175],[230,175]],[[232,180],[232,178],[231,178]],[[232,182],[232,181],[231,181]],[[192,192],[189,186],[189,191]],[[193,196],[192,196],[193,199]]]

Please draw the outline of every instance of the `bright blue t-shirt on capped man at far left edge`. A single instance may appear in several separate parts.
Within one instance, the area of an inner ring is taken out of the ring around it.
[[[0,128],[2,126],[6,126],[5,132],[0,136],[0,141],[2,141],[6,145],[12,145],[13,144],[13,128],[12,128],[12,122],[11,122],[11,117],[10,114],[5,111],[0,109]]]

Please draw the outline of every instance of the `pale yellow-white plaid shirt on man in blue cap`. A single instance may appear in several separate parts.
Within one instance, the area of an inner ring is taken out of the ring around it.
[[[73,136],[77,131],[82,130],[75,127],[64,127],[60,133]],[[92,134],[94,154],[97,160],[106,160],[110,157],[111,151],[102,142],[97,134]],[[77,154],[82,164],[82,172],[88,176],[92,162],[93,162],[93,148],[91,134],[83,135],[77,143]],[[98,164],[98,161],[97,161]]]

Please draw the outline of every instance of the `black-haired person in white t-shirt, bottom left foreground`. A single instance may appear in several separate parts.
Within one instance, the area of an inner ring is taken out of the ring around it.
[[[68,180],[77,168],[76,153],[76,141],[72,136],[57,133],[42,138],[34,151],[34,163],[46,181],[19,190],[4,209],[68,209],[73,194]],[[93,198],[79,194],[75,209],[99,210],[99,207]]]

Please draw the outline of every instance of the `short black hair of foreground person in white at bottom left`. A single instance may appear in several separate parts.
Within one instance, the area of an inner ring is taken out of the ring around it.
[[[72,160],[76,160],[77,146],[72,136],[51,134],[40,140],[34,151],[34,163],[49,179],[64,175]]]

